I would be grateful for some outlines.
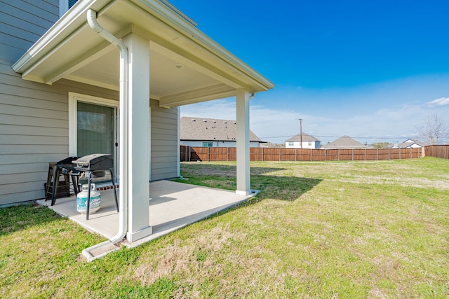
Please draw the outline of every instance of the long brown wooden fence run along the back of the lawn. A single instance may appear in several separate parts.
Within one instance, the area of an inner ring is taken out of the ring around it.
[[[251,161],[394,160],[421,156],[422,148],[250,148]],[[181,146],[181,161],[234,160],[235,147]]]

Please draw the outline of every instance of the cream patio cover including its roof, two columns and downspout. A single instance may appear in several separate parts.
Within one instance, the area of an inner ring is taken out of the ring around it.
[[[13,69],[39,83],[64,78],[119,91],[120,213],[111,243],[153,233],[149,99],[172,108],[236,97],[236,194],[252,193],[249,99],[274,85],[165,0],[78,1]]]

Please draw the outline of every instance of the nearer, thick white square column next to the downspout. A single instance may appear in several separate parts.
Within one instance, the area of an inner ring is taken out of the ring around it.
[[[133,242],[152,234],[149,226],[149,41],[137,34],[123,38],[128,47],[128,231]],[[125,174],[126,175],[126,174]]]

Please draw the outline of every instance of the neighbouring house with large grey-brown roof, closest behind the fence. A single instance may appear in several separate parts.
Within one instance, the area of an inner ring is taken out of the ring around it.
[[[235,147],[237,123],[235,120],[182,117],[180,136],[185,146]],[[250,147],[257,148],[261,143],[264,141],[250,130]]]

